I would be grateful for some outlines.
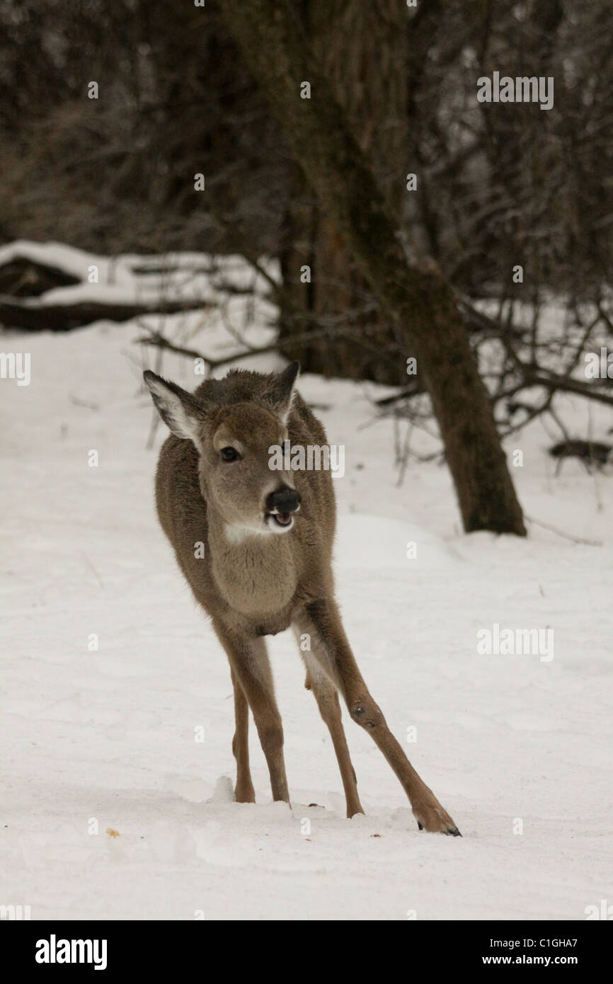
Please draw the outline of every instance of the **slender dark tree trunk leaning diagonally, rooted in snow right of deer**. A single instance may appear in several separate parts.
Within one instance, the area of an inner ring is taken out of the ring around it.
[[[411,269],[365,155],[348,129],[287,0],[220,0],[226,22],[320,203],[410,346],[454,477],[464,529],[525,535],[521,507],[455,294],[434,269]],[[300,86],[311,83],[311,98]]]

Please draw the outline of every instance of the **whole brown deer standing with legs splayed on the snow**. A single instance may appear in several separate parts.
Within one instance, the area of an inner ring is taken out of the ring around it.
[[[330,469],[271,466],[273,448],[328,445],[296,390],[298,362],[281,372],[231,369],[188,393],[144,373],[170,434],[155,474],[159,523],[227,656],[234,690],[234,798],[255,803],[249,710],[275,801],[291,809],[283,728],[265,638],[291,628],[337,756],[348,818],[364,813],[342,725],[349,716],[396,773],[419,830],[460,836],[392,734],[360,673],[335,597],[336,498]],[[197,546],[198,545],[198,546]]]

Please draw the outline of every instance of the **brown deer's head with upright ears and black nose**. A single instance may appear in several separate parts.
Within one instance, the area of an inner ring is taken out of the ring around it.
[[[300,508],[291,470],[271,468],[273,446],[287,440],[287,419],[300,365],[292,362],[262,392],[238,402],[223,399],[225,381],[211,395],[187,393],[175,383],[144,373],[153,403],[172,433],[192,441],[199,455],[200,486],[225,524],[228,537],[284,533]],[[262,379],[262,377],[260,377]],[[227,385],[227,384],[226,384]],[[220,399],[217,399],[220,398]]]

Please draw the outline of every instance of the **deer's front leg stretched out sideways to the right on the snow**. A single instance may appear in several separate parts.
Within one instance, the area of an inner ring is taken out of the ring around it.
[[[312,647],[313,654],[337,685],[353,720],[369,732],[396,772],[420,830],[460,836],[450,815],[411,766],[381,708],[371,697],[344,634],[336,603],[328,599],[310,602],[305,612],[318,643]]]

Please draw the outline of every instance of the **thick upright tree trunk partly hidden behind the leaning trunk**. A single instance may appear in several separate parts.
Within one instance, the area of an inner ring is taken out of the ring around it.
[[[314,58],[366,155],[385,203],[401,215],[406,195],[406,8],[398,0],[308,0],[304,25]],[[308,82],[309,80],[303,80]],[[399,384],[399,360],[383,356],[390,319],[338,234],[334,217],[295,167],[284,222],[279,338],[329,325],[323,341],[292,344],[305,369]],[[301,271],[310,268],[310,280]],[[355,335],[360,343],[340,334]]]

